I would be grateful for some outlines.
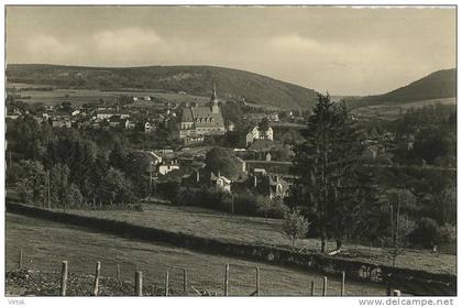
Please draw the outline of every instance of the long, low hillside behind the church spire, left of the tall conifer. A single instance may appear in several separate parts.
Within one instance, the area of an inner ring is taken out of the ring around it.
[[[298,109],[311,107],[317,94],[262,75],[215,66],[148,66],[102,68],[45,64],[11,64],[9,83],[75,89],[155,89],[209,96],[216,80],[221,99]]]

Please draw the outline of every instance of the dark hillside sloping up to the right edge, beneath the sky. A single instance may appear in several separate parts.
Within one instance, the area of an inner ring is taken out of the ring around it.
[[[420,100],[452,98],[457,96],[457,70],[443,69],[435,72],[407,86],[387,94],[366,96],[359,99],[346,99],[354,107],[364,106],[400,106]]]

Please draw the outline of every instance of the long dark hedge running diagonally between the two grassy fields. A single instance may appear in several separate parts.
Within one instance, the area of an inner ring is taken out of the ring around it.
[[[344,272],[350,279],[376,282],[392,285],[393,287],[406,288],[406,293],[415,295],[455,295],[457,293],[457,277],[452,274],[435,274],[426,271],[375,265],[348,259],[328,257],[320,254],[306,254],[268,245],[213,240],[122,221],[47,211],[20,204],[7,202],[7,209],[11,212],[58,222],[63,221],[67,224],[85,226],[90,229],[131,239],[148,242],[166,242],[207,253],[245,257],[337,276]]]

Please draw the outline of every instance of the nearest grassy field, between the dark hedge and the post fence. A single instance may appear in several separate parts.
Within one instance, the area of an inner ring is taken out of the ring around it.
[[[7,270],[16,267],[19,251],[23,250],[23,263],[30,270],[58,272],[61,261],[68,260],[70,273],[90,275],[95,263],[101,261],[101,275],[114,277],[119,263],[125,281],[133,281],[135,267],[143,271],[145,287],[151,287],[153,283],[162,285],[168,270],[170,287],[179,290],[183,287],[183,267],[187,267],[189,281],[196,288],[207,288],[221,295],[224,264],[230,263],[231,295],[249,295],[254,290],[256,265],[261,270],[263,295],[307,295],[311,281],[316,282],[316,294],[321,290],[322,277],[314,273],[138,242],[18,215],[7,213],[6,233]],[[72,287],[70,282],[69,289]],[[91,287],[90,282],[88,287]],[[338,295],[339,279],[329,277],[328,289],[328,294]],[[351,282],[346,277],[345,292],[348,295],[384,295],[385,288]]]

